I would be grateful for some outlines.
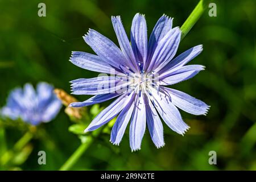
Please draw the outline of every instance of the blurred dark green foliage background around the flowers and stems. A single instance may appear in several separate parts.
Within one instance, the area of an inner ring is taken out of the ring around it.
[[[46,17],[38,16],[40,2],[46,3]],[[150,35],[162,14],[174,17],[174,26],[181,26],[197,2],[0,0],[0,106],[6,104],[11,89],[26,82],[47,81],[70,93],[69,81],[97,76],[68,60],[71,51],[93,53],[82,39],[88,28],[117,43],[112,15],[121,15],[130,34],[133,16],[145,14]],[[255,1],[213,2],[217,17],[209,17],[207,9],[177,52],[203,44],[204,51],[191,64],[206,69],[174,86],[210,105],[208,115],[197,117],[181,111],[191,129],[182,137],[164,126],[166,146],[160,149],[152,143],[148,130],[138,152],[131,152],[127,130],[120,146],[109,142],[109,134],[101,134],[71,169],[256,170]],[[76,98],[84,101],[88,97]],[[0,169],[59,169],[81,143],[68,131],[71,125],[63,107],[56,119],[40,126],[43,137],[33,138],[20,154],[26,160],[17,159]],[[18,126],[2,125],[0,155],[11,150],[24,133]],[[41,150],[46,151],[46,165],[38,164]],[[209,165],[209,151],[217,152],[217,165]]]

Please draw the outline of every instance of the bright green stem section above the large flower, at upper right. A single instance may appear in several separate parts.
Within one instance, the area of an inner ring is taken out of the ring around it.
[[[200,0],[199,3],[196,5],[195,9],[192,13],[188,16],[187,20],[181,26],[181,40],[188,34],[200,16],[204,13],[204,10],[207,9],[207,1]]]

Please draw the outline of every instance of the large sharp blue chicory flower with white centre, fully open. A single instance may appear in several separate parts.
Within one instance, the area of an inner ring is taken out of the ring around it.
[[[166,87],[188,80],[204,69],[202,65],[185,65],[199,55],[203,46],[192,47],[173,59],[179,47],[181,31],[179,27],[172,28],[172,18],[166,15],[156,23],[149,41],[144,15],[134,16],[131,41],[127,38],[120,16],[112,16],[112,23],[121,49],[105,36],[89,29],[84,40],[97,55],[73,51],[71,62],[101,73],[112,74],[114,69],[114,76],[71,81],[73,94],[95,96],[70,106],[89,106],[118,97],[93,119],[85,132],[98,129],[119,114],[110,142],[119,145],[130,121],[132,151],[141,149],[146,125],[155,146],[160,148],[164,146],[160,117],[172,130],[183,135],[189,126],[181,118],[177,107],[195,115],[207,114],[209,106],[204,102]],[[102,88],[102,85],[105,86]]]

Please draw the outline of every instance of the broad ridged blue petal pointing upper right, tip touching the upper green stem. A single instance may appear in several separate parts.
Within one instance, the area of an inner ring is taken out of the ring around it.
[[[181,31],[179,27],[175,27],[160,40],[152,56],[150,65],[147,68],[148,72],[158,72],[172,60],[179,47],[180,35]]]

